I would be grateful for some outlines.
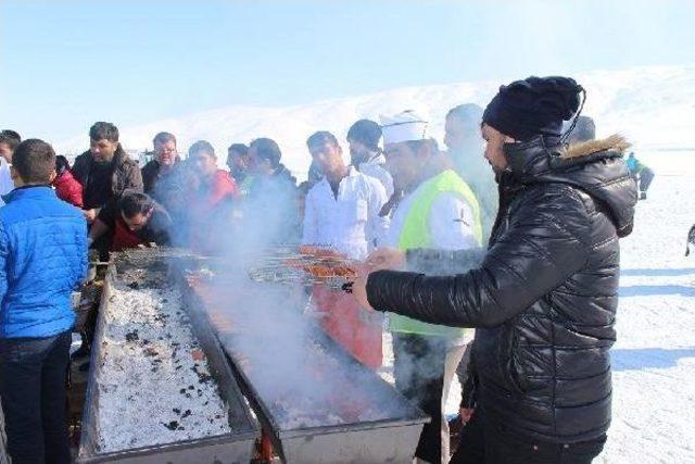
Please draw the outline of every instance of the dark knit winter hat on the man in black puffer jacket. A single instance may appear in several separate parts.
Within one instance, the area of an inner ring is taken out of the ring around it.
[[[577,113],[583,88],[569,77],[535,77],[500,87],[482,115],[482,122],[525,141],[563,133],[563,121]]]

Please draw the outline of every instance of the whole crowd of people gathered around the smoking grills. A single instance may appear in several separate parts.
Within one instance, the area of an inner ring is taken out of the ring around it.
[[[70,294],[88,248],[104,260],[151,243],[215,253],[228,237],[364,263],[353,294],[316,286],[313,300],[324,330],[374,369],[389,313],[395,387],[432,418],[418,462],[448,462],[451,444],[455,463],[591,462],[610,419],[618,238],[637,195],[628,145],[594,139],[585,98],[565,77],[502,86],[484,110],[447,113],[446,150],[413,111],[359,120],[344,142],[319,130],[299,186],[269,138],[231,143],[227,171],[210,142],[182,155],[162,131],[140,167],[98,122],[71,167],[3,130],[0,399],[13,462],[70,461]],[[450,443],[456,374],[465,427]]]

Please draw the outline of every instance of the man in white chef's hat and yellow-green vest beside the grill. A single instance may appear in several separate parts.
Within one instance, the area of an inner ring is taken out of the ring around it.
[[[391,218],[384,244],[399,250],[479,248],[480,208],[472,190],[427,136],[427,121],[412,111],[382,116],[386,166],[404,192]],[[390,314],[396,388],[432,417],[416,459],[448,462],[448,424],[444,405],[456,366],[471,334]]]

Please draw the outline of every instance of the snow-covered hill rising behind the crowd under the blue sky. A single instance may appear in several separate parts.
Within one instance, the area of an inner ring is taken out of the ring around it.
[[[576,78],[587,90],[584,114],[596,120],[598,135],[621,131],[637,149],[695,148],[695,65],[596,71]],[[228,106],[121,127],[121,138],[126,149],[143,150],[151,148],[154,134],[167,130],[179,139],[181,152],[205,139],[226,154],[231,142],[270,137],[279,142],[288,167],[303,177],[308,164],[304,142],[315,130],[331,130],[344,139],[358,118],[378,121],[380,113],[415,109],[429,118],[432,135],[441,140],[448,109],[465,102],[484,106],[506,80],[400,88],[288,108]],[[87,145],[84,134],[54,146],[58,152],[79,153]]]

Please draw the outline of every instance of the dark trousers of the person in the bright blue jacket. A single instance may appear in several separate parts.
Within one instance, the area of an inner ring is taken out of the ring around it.
[[[0,339],[0,397],[13,464],[70,463],[65,379],[71,333]]]

